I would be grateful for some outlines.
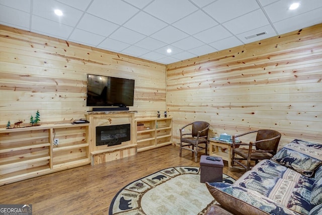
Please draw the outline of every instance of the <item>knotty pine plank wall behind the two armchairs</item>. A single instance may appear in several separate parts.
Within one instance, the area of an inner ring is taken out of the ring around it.
[[[173,135],[208,121],[210,135],[270,128],[280,146],[322,142],[322,24],[167,65]],[[252,139],[248,137],[246,139]]]

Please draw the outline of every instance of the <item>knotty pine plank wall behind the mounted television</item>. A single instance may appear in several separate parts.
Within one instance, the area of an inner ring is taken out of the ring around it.
[[[166,65],[0,25],[0,126],[85,118],[87,74],[135,80],[135,117],[166,110]]]

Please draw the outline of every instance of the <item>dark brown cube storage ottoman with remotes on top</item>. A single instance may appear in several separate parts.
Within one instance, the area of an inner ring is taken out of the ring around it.
[[[208,156],[202,155],[200,158],[200,182],[222,182],[223,161],[207,160]]]

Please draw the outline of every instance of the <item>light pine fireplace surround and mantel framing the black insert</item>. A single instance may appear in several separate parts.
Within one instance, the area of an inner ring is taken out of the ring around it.
[[[136,155],[134,113],[137,113],[137,111],[93,111],[86,114],[87,120],[90,121],[89,136],[92,165]],[[130,140],[116,146],[96,146],[97,126],[121,124],[130,124]]]

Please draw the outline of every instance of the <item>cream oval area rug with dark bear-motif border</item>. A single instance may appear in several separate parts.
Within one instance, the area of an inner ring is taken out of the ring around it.
[[[222,181],[235,180],[225,174]],[[199,167],[172,167],[136,180],[113,198],[112,214],[203,214],[216,203],[206,185],[200,183]]]

